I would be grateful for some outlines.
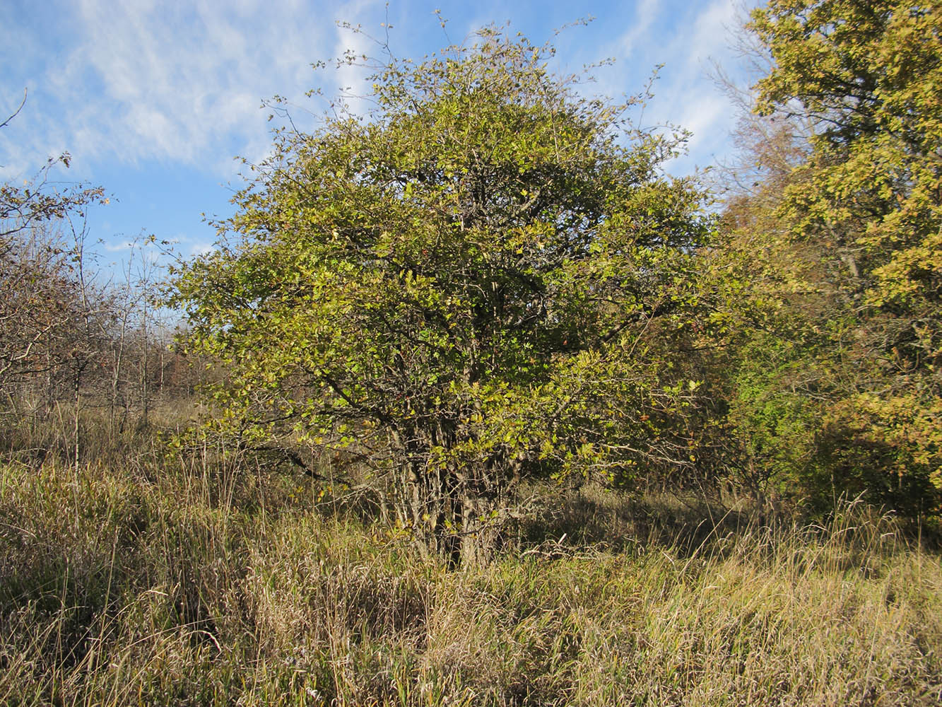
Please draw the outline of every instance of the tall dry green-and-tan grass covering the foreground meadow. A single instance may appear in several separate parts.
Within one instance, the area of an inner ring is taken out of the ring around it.
[[[859,503],[584,492],[449,571],[313,482],[148,439],[0,467],[0,704],[942,702],[942,562]]]

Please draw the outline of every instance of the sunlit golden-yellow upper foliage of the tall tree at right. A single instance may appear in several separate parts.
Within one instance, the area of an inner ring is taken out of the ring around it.
[[[872,306],[915,314],[938,304],[936,4],[772,2],[752,29],[777,64],[757,85],[758,109],[798,111],[818,128],[786,193],[793,233],[828,238]],[[933,359],[938,343],[917,335],[908,357]]]

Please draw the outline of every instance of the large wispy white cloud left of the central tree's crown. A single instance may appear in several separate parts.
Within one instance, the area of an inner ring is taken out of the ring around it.
[[[0,79],[5,96],[22,91],[20,82],[46,96],[0,134],[4,158],[35,164],[68,149],[76,161],[156,159],[233,173],[220,155],[267,148],[262,101],[278,93],[300,103],[315,80],[311,62],[344,48],[333,15],[303,5],[78,0],[60,8],[72,26],[58,53],[38,74]],[[355,19],[366,5],[341,9]]]

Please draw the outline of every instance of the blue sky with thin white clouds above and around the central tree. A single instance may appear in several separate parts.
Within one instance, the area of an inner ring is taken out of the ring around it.
[[[179,242],[183,254],[211,246],[215,230],[203,221],[232,213],[243,182],[235,156],[257,161],[270,143],[270,110],[280,94],[292,118],[313,127],[317,102],[356,90],[363,74],[349,69],[315,73],[311,63],[347,48],[370,54],[369,42],[339,28],[362,25],[382,36],[399,57],[421,58],[461,42],[489,23],[510,21],[531,41],[593,16],[588,26],[555,39],[560,71],[606,58],[592,90],[613,97],[642,89],[664,64],[644,123],[670,122],[693,132],[690,156],[671,165],[688,173],[722,158],[735,110],[707,77],[716,60],[733,74],[730,49],[747,0],[692,2],[384,2],[352,0],[4,0],[0,8],[0,113],[28,97],[22,112],[0,130],[0,179],[22,180],[48,156],[68,151],[62,180],[101,186],[108,206],[90,215],[91,235],[103,257],[122,258],[123,244],[140,233]],[[443,31],[434,10],[447,19]],[[375,53],[375,52],[374,52]],[[364,91],[365,92],[365,91]],[[2,119],[0,119],[2,120]]]

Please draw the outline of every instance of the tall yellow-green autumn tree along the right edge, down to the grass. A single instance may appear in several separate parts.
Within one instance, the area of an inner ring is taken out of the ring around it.
[[[771,0],[748,25],[773,60],[755,86],[757,110],[798,119],[810,135],[803,158],[731,208],[740,238],[778,254],[767,264],[792,263],[772,278],[776,294],[761,295],[778,307],[777,340],[759,337],[776,360],[741,361],[739,423],[754,441],[809,432],[802,458],[786,456],[818,501],[866,492],[911,513],[939,510],[938,10]]]

